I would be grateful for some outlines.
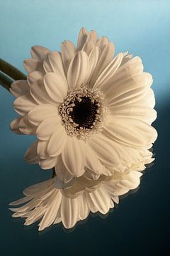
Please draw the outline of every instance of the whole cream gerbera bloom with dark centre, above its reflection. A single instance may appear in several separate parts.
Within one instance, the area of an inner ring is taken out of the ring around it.
[[[140,162],[140,151],[157,138],[152,75],[139,57],[114,57],[113,43],[81,28],[77,47],[62,43],[61,53],[42,46],[24,61],[27,80],[13,82],[11,123],[18,134],[38,137],[26,152],[29,163],[55,167],[57,178],[123,172]]]

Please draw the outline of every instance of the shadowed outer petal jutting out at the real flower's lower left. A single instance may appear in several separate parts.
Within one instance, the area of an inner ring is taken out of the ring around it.
[[[37,146],[38,146],[38,141],[35,141],[26,151],[24,158],[29,164],[38,163],[39,157],[37,154]]]

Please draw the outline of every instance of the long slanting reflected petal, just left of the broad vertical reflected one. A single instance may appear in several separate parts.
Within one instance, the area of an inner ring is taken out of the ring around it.
[[[54,223],[61,202],[62,194],[60,193],[60,191],[56,190],[52,195],[52,198],[50,198],[50,203],[48,203],[45,215],[40,222],[40,226],[38,228],[39,231],[44,230],[45,228],[52,225],[52,223]]]

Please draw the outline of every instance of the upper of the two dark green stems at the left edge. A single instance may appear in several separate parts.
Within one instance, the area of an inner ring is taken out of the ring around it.
[[[26,75],[0,58],[0,71],[13,78],[13,80],[26,80]]]

